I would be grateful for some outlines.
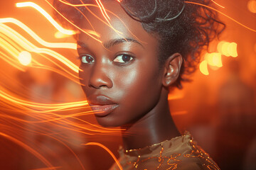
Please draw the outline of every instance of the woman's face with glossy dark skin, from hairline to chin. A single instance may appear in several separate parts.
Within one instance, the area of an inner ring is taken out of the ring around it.
[[[110,24],[116,30],[107,26],[99,8],[89,7],[99,18],[85,12],[87,20],[83,19],[82,29],[94,28],[102,43],[85,33],[79,34],[80,82],[92,110],[101,111],[95,113],[97,122],[116,127],[133,123],[154,110],[162,89],[162,69],[156,38],[117,2],[107,1],[103,5],[112,11],[108,12]]]

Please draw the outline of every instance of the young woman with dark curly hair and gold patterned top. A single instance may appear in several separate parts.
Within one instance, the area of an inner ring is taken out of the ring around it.
[[[168,105],[169,88],[181,87],[203,47],[221,32],[215,13],[182,0],[102,0],[102,5],[110,23],[97,6],[77,11],[55,1],[61,13],[97,35],[95,40],[78,33],[80,82],[92,110],[100,111],[97,122],[125,129],[122,168],[219,169],[188,132],[178,132]]]

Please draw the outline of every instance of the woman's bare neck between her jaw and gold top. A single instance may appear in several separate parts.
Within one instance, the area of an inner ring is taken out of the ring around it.
[[[170,140],[179,136],[168,105],[168,93],[161,96],[159,103],[143,118],[122,132],[124,149],[138,149]]]

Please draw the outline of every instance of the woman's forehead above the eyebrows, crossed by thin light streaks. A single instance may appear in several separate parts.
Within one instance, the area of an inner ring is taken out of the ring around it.
[[[100,39],[134,38],[140,42],[146,42],[149,34],[142,28],[142,23],[134,21],[120,6],[117,1],[102,1],[104,10],[98,6],[88,6],[85,17],[81,20],[82,29],[88,30],[100,37]],[[83,33],[80,36],[87,36]]]

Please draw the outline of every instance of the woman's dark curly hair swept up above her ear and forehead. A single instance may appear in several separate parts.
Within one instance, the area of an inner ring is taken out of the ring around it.
[[[92,0],[65,1],[70,4],[93,3]],[[53,5],[79,26],[85,7],[74,8],[58,0],[54,0]],[[175,84],[178,88],[181,88],[181,81],[188,81],[188,75],[196,70],[202,50],[207,49],[210,41],[225,28],[217,13],[205,7],[211,5],[210,0],[122,0],[120,5],[129,16],[142,23],[144,30],[158,38],[160,66],[175,52],[183,56]]]

